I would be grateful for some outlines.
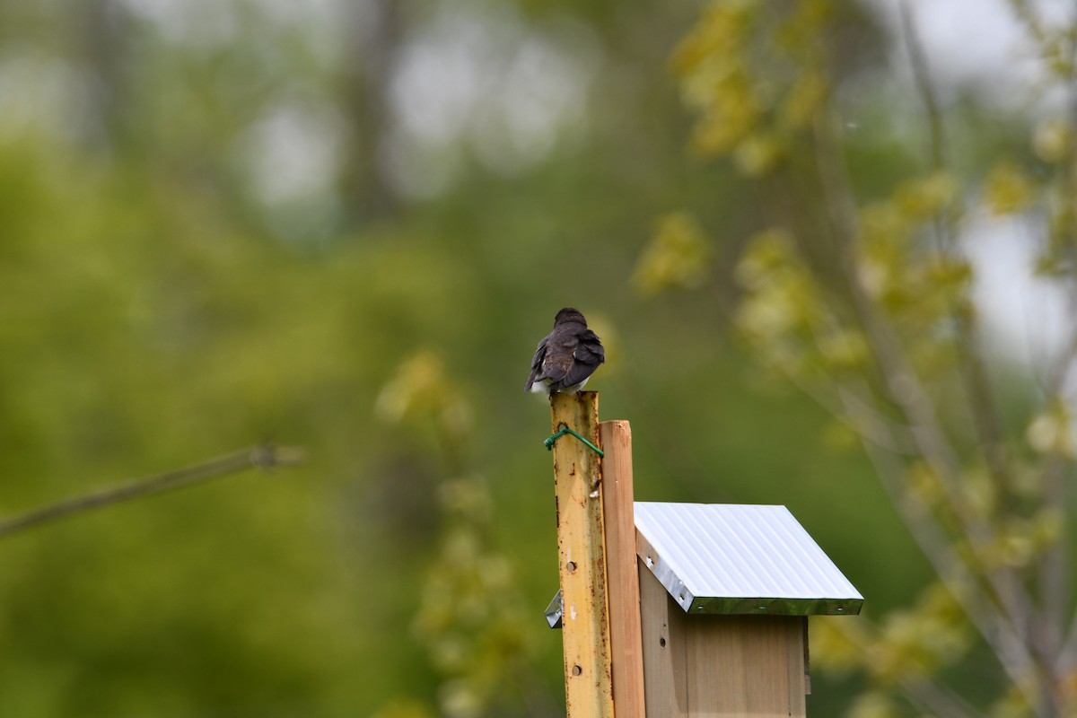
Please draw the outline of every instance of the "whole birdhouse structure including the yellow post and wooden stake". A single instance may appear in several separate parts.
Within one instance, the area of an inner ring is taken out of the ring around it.
[[[597,393],[550,411],[568,717],[805,716],[808,617],[864,597],[784,506],[634,502]]]

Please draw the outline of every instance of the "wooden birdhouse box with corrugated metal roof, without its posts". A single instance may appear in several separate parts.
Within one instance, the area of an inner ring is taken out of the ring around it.
[[[646,715],[803,716],[808,616],[864,597],[784,506],[634,513]]]

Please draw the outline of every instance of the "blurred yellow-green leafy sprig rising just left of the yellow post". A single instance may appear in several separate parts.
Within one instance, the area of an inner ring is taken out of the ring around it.
[[[377,410],[390,421],[433,423],[448,439],[442,447],[445,463],[463,468],[461,452],[450,445],[467,440],[471,409],[457,383],[448,380],[438,354],[419,351],[407,360],[382,390]],[[440,546],[412,631],[443,677],[438,715],[491,715],[527,660],[529,633],[520,595],[508,558],[492,547],[493,502],[485,479],[475,473],[444,477],[437,499]],[[400,705],[386,714],[423,715],[421,706]]]

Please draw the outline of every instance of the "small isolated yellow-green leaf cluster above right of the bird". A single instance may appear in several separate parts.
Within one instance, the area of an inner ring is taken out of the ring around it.
[[[632,283],[645,294],[695,288],[707,278],[710,258],[710,242],[699,223],[685,212],[672,212],[658,221]]]

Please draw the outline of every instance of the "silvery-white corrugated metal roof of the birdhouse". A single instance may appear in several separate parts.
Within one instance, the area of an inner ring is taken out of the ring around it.
[[[864,596],[784,506],[635,503],[637,553],[701,614],[858,614]]]

